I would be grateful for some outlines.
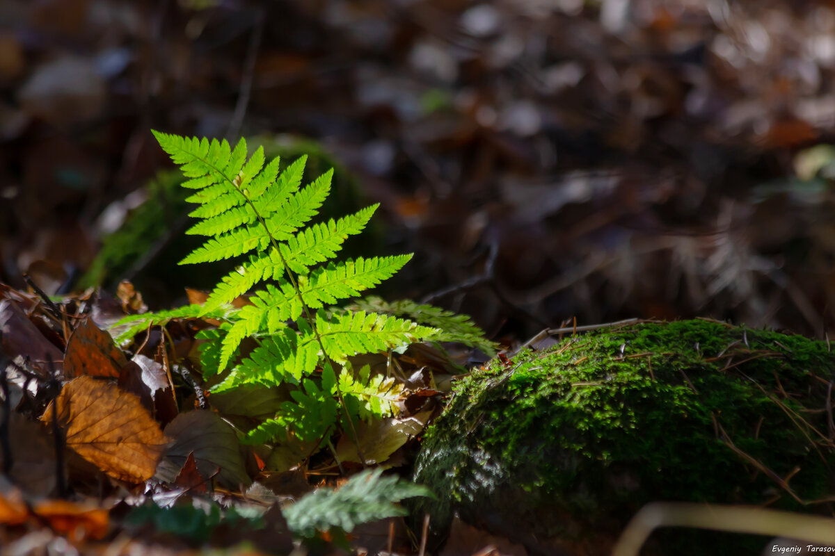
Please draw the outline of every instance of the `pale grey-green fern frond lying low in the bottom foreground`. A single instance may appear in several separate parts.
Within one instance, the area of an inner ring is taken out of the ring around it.
[[[319,488],[306,494],[283,513],[287,526],[302,537],[334,528],[350,533],[362,523],[406,515],[406,510],[393,502],[414,496],[432,493],[422,485],[382,477],[382,469],[377,468],[358,473],[336,491]]]

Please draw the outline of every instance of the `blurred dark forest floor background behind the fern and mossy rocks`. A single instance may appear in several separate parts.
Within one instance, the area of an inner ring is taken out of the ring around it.
[[[0,281],[129,278],[152,308],[200,286],[163,263],[185,217],[154,128],[316,151],[335,214],[382,203],[360,253],[416,253],[387,297],[494,338],[692,316],[822,338],[833,73],[823,0],[2,0]]]

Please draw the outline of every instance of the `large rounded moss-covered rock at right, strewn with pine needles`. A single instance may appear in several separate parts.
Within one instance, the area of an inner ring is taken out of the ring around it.
[[[704,320],[494,359],[457,384],[428,430],[414,478],[438,500],[413,513],[430,513],[438,536],[458,513],[534,552],[592,554],[654,500],[831,513],[797,500],[835,494],[833,378],[827,343]],[[653,538],[662,552],[704,553],[689,536]],[[745,542],[726,535],[710,552]]]

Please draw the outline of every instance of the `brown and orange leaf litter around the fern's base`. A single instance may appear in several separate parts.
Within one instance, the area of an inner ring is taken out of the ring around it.
[[[122,291],[129,299],[141,296],[127,285]],[[40,535],[38,542],[65,538],[92,550],[121,530],[129,535],[126,546],[157,539],[176,551],[251,538],[265,553],[289,553],[301,529],[312,534],[319,527],[316,535],[332,546],[328,550],[337,550],[331,543],[382,549],[392,542],[402,553],[416,549],[403,523],[390,527],[400,509],[377,515],[374,504],[354,505],[367,503],[363,496],[370,493],[412,495],[376,474],[359,478],[365,486],[349,481],[353,486],[342,498],[333,498],[332,522],[320,516],[311,528],[296,512],[293,523],[306,524],[298,525],[296,533],[288,528],[282,513],[288,504],[318,493],[316,487],[326,484],[321,478],[333,476],[340,465],[348,471],[362,466],[356,445],[347,438],[340,438],[332,453],[314,459],[310,454],[316,443],[293,436],[276,445],[241,444],[239,427],[274,413],[287,398],[281,388],[210,395],[200,378],[200,358],[171,344],[168,331],[152,327],[160,333],[140,333],[124,351],[89,317],[104,310],[112,323],[118,313],[144,310],[139,303],[86,293],[55,301],[56,313],[37,295],[11,288],[0,294],[0,314],[10,327],[10,341],[0,338],[0,372],[8,378],[3,398],[11,418],[10,449],[0,449],[0,462],[4,468],[8,462],[8,477],[16,485],[0,488],[0,543],[21,546]],[[193,336],[211,324],[172,318],[164,326],[192,345]],[[367,463],[380,469],[409,461],[404,450],[438,410],[436,401],[443,395],[428,388],[430,369],[447,376],[453,364],[428,344],[415,349],[366,359],[383,372],[393,361],[395,376],[402,375],[387,386],[387,397],[393,396],[400,414],[357,429]],[[140,351],[157,355],[149,358]],[[171,373],[164,370],[166,362]],[[408,399],[419,401],[407,408]],[[344,479],[341,483],[346,484]],[[302,508],[329,499],[318,493]],[[365,523],[372,518],[382,521]],[[356,532],[348,533],[346,528],[355,526]]]

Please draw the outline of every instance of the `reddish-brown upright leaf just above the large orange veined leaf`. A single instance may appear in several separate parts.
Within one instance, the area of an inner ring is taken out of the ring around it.
[[[91,318],[85,318],[73,330],[63,355],[63,369],[67,378],[89,375],[91,377],[119,377],[119,371],[128,364],[110,334],[97,327]]]

